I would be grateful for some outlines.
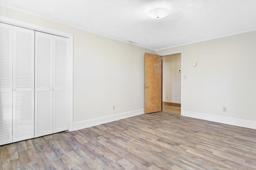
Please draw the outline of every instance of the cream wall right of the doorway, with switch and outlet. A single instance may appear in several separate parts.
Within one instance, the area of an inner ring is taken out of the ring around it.
[[[256,31],[156,53],[180,50],[184,111],[256,121]]]

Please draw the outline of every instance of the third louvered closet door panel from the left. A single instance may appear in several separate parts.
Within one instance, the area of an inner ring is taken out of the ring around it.
[[[53,133],[53,35],[35,35],[35,137],[40,137]]]

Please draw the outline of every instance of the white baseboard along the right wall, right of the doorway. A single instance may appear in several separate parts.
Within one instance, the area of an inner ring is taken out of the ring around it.
[[[206,113],[197,113],[193,111],[182,111],[182,116],[186,117],[193,117],[196,119],[203,119],[208,121],[214,121],[218,123],[224,123],[228,125],[235,125],[240,127],[247,127],[250,129],[256,129],[256,121],[249,121],[244,119],[236,119],[232,117],[224,117],[224,116],[218,116],[218,115],[210,115]]]

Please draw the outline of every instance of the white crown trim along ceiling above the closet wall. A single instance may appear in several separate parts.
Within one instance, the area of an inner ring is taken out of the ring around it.
[[[92,31],[92,30],[89,30],[89,29],[84,29],[82,27],[78,27],[78,26],[75,26],[75,25],[72,25],[72,24],[69,24],[69,23],[65,23],[65,22],[62,22],[62,21],[58,21],[58,20],[53,20],[51,18],[47,18],[47,17],[44,17],[44,16],[40,16],[38,14],[34,14],[34,13],[31,13],[31,12],[28,12],[28,11],[25,11],[25,10],[21,10],[21,9],[18,9],[18,8],[14,8],[12,6],[8,6],[8,5],[4,5],[4,4],[1,4],[2,7],[4,8],[9,8],[11,10],[15,10],[15,11],[18,11],[18,12],[22,12],[24,14],[28,14],[28,15],[31,15],[31,16],[35,16],[35,17],[38,17],[38,18],[42,18],[42,19],[45,19],[45,20],[49,20],[49,21],[53,21],[53,22],[56,22],[56,23],[60,23],[62,25],[66,25],[66,26],[69,26],[69,27],[73,27],[73,28],[76,28],[76,29],[80,29],[80,30],[83,30],[83,31],[86,31],[86,32],[89,32],[89,33],[93,33],[93,34],[96,34],[96,35],[100,35],[102,37],[106,37],[106,38],[109,38],[109,39],[114,39],[116,41],[121,41],[123,43],[128,43],[128,44],[131,44],[131,45],[135,45],[135,46],[138,46],[138,47],[142,47],[142,48],[145,48],[145,49],[149,49],[149,50],[153,50],[153,51],[156,51],[154,49],[150,49],[149,47],[144,47],[142,45],[138,45],[138,44],[132,44],[132,43],[129,43],[128,41],[130,40],[122,40],[122,39],[118,39],[118,38],[115,38],[115,37],[110,37],[108,35],[105,35],[105,34],[102,34],[102,33],[98,33],[98,32],[95,32],[95,31]]]

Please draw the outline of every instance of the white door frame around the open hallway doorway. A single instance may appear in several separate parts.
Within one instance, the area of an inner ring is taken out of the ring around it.
[[[183,50],[180,51],[173,51],[173,52],[169,52],[169,53],[161,53],[158,54],[162,57],[164,56],[168,56],[168,55],[174,55],[174,54],[181,54],[181,90],[180,90],[180,115],[183,115],[183,77],[184,77],[184,70],[183,70]],[[163,73],[162,73],[162,79],[163,79]],[[162,85],[163,86],[163,85]],[[163,88],[162,88],[163,91]],[[162,102],[163,102],[163,97],[162,97]]]

